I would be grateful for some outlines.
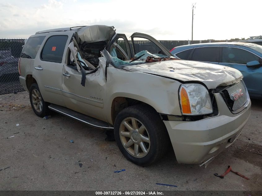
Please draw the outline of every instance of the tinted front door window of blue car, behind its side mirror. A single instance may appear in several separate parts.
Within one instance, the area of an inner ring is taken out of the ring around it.
[[[239,48],[222,48],[222,63],[246,64],[250,61],[259,61],[259,57],[251,52]]]

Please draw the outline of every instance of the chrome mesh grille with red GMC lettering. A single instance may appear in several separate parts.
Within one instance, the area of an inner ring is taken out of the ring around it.
[[[246,103],[246,99],[247,99],[246,86],[242,80],[230,86],[226,90],[230,96],[230,99],[234,102],[232,111],[238,110]],[[242,90],[242,93],[240,92],[240,90]]]

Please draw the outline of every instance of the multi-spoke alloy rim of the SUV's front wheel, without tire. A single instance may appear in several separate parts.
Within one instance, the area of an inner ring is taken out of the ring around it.
[[[144,124],[139,120],[129,117],[124,119],[119,128],[122,145],[127,152],[136,158],[142,158],[150,149],[150,137]]]

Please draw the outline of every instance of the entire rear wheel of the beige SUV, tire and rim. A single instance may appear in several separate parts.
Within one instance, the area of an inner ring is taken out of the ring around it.
[[[48,115],[48,103],[42,98],[37,84],[32,84],[29,89],[29,98],[34,113],[40,117]]]

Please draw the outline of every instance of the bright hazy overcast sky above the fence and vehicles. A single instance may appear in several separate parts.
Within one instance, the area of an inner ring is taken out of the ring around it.
[[[262,1],[235,0],[0,0],[0,38],[28,38],[37,31],[80,25],[114,26],[128,37],[158,40],[248,38],[262,34]]]

